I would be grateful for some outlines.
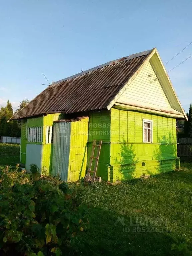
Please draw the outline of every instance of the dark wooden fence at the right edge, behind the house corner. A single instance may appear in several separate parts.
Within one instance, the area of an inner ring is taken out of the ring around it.
[[[192,157],[192,138],[178,138],[177,142],[177,155]]]

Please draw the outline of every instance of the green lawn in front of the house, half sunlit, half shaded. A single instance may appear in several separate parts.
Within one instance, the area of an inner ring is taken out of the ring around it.
[[[78,236],[82,255],[192,255],[192,164],[116,186],[80,186],[90,212],[90,229]],[[118,218],[124,226],[114,225]]]

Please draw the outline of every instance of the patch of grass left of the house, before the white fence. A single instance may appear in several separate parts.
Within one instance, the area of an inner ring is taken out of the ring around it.
[[[16,165],[20,161],[20,145],[0,143],[0,164]]]

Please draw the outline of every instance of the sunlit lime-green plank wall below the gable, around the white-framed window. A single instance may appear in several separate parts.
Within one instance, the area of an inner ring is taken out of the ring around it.
[[[176,120],[111,109],[110,181],[175,169]],[[153,143],[143,143],[143,119],[153,120]]]

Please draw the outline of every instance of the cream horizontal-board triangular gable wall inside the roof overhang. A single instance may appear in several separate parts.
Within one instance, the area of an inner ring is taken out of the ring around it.
[[[117,102],[158,110],[173,110],[150,61],[145,63]]]

